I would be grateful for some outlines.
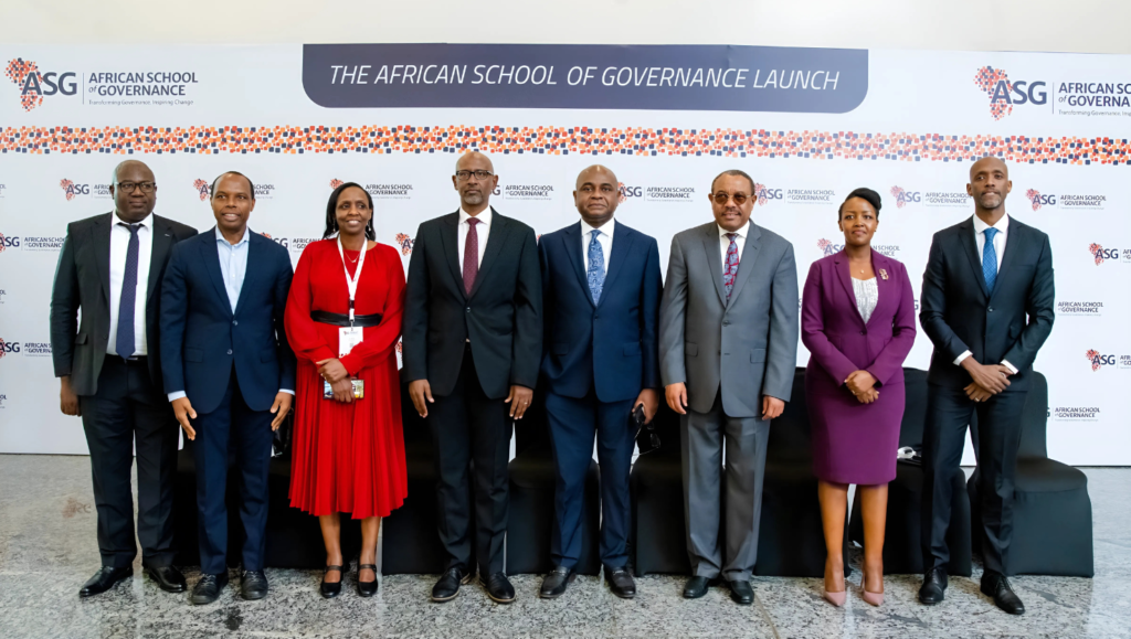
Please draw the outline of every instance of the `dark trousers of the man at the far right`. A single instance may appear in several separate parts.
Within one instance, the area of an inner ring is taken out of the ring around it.
[[[1013,387],[1019,386],[1013,383]],[[1027,385],[1026,385],[1027,386]],[[1011,387],[1011,388],[1013,388]],[[1021,407],[1028,390],[1005,389],[975,403],[961,388],[930,385],[923,433],[923,565],[946,567],[950,560],[950,477],[962,459],[966,428],[977,412],[977,477],[982,503],[982,558],[986,570],[1005,573],[1013,534],[1013,478],[1021,444]],[[978,539],[975,539],[977,547]]]

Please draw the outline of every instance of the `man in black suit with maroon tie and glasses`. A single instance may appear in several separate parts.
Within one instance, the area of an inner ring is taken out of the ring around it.
[[[503,572],[507,463],[511,420],[521,420],[529,407],[542,359],[538,250],[529,226],[489,205],[499,178],[487,156],[460,157],[451,182],[459,210],[416,232],[403,338],[408,391],[416,412],[431,417],[440,477],[440,541],[448,565],[432,601],[455,597],[478,568],[487,595],[510,603],[515,588]]]

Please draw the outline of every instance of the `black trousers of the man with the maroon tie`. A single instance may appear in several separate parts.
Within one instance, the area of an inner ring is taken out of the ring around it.
[[[437,507],[447,569],[480,570],[486,578],[503,571],[507,535],[511,418],[504,399],[491,399],[475,373],[472,351],[464,348],[459,378],[450,395],[429,407],[435,447]],[[474,472],[469,463],[474,461]],[[473,490],[468,490],[468,482]],[[472,553],[474,492],[475,552]],[[473,563],[474,559],[474,563]]]

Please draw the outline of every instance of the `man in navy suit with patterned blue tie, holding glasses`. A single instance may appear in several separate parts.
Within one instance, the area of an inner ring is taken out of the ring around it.
[[[546,414],[558,469],[551,539],[555,568],[541,596],[561,596],[581,552],[585,474],[597,438],[601,465],[601,562],[613,593],[636,596],[627,569],[629,469],[644,405],[651,421],[659,405],[659,299],[663,283],[656,240],[613,221],[616,175],[604,166],[577,178],[573,201],[581,221],[543,235],[542,262]]]

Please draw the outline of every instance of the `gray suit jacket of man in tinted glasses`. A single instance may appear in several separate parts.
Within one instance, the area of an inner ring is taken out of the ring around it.
[[[722,387],[731,417],[761,414],[762,395],[789,400],[797,365],[793,244],[750,224],[731,299],[714,221],[672,239],[659,306],[664,385],[685,382],[688,404],[710,412]]]

